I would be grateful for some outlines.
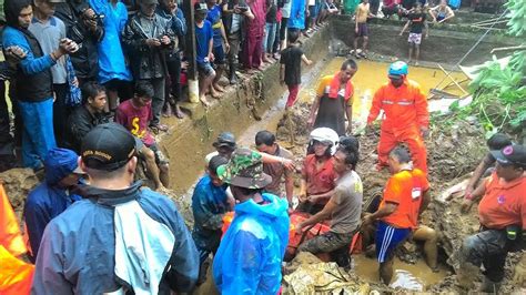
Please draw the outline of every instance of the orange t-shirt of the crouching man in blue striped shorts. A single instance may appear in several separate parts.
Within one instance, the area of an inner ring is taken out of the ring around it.
[[[419,169],[403,170],[391,176],[380,207],[385,206],[386,202],[398,204],[398,206],[382,221],[397,228],[416,228],[422,197],[427,190],[429,190],[429,182]]]

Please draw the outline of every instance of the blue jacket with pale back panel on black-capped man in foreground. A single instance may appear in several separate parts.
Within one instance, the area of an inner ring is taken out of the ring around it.
[[[199,274],[190,232],[172,200],[141,184],[83,186],[84,199],[44,231],[31,293],[190,292]]]

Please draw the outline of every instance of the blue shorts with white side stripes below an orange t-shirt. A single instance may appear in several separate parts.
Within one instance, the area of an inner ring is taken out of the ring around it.
[[[385,222],[378,222],[376,228],[376,256],[380,263],[391,261],[395,250],[411,234],[411,228],[396,228]]]

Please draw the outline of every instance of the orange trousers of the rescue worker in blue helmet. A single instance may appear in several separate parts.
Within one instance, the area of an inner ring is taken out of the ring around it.
[[[382,128],[378,142],[378,164],[387,166],[390,152],[399,143],[405,143],[409,148],[413,165],[427,173],[427,151],[416,125],[403,130]]]

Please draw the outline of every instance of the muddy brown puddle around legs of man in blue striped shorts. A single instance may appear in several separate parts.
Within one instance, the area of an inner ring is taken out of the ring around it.
[[[367,258],[365,255],[353,255],[354,272],[370,282],[380,283],[378,262],[375,258]],[[395,258],[393,266],[394,274],[391,287],[402,287],[412,291],[425,291],[427,286],[434,285],[446,276],[446,269],[439,268],[434,273],[423,260],[416,264],[407,264]]]

